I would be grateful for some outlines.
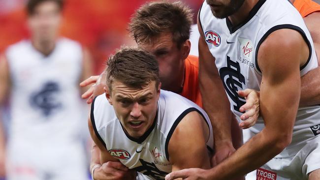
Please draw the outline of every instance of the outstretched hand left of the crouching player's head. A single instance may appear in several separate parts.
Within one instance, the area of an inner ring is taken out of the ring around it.
[[[89,88],[89,90],[81,95],[81,98],[87,99],[88,104],[92,103],[96,95],[104,93],[103,88],[106,86],[105,73],[103,72],[99,76],[91,76],[80,83],[80,87],[87,87],[89,85],[92,86]]]

